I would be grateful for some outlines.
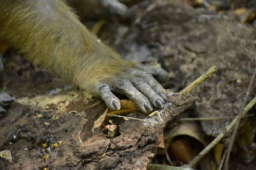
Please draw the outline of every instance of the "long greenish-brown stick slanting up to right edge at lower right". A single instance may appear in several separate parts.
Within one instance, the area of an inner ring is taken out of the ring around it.
[[[248,113],[248,111],[253,106],[255,106],[255,104],[256,104],[256,97],[254,97],[252,99],[252,101],[250,101],[250,103],[248,103],[246,105],[241,117],[244,117]],[[191,162],[189,162],[189,164],[185,165],[184,167],[193,167],[193,166],[195,166],[207,153],[209,153],[209,151],[212,148],[214,148],[214,146],[216,146],[221,141],[221,139],[223,139],[229,132],[232,131],[232,129],[236,125],[236,122],[237,122],[238,118],[239,118],[239,116],[234,118],[234,120],[232,120],[232,122],[229,125],[227,125],[227,127],[225,127],[225,129],[208,146],[206,146],[204,148],[204,150],[202,150],[193,160],[191,160]]]

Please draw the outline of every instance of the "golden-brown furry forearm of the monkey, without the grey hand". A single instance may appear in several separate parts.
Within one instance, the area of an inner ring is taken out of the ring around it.
[[[1,0],[0,23],[0,40],[88,92],[95,82],[134,66],[91,34],[61,0]]]

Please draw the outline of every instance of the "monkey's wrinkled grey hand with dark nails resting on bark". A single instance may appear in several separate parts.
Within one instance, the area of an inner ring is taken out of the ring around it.
[[[163,108],[167,97],[159,82],[168,79],[168,73],[163,69],[151,66],[125,67],[115,74],[108,73],[108,68],[102,70],[105,72],[101,74],[104,78],[98,76],[96,80],[90,79],[93,83],[84,89],[92,92],[93,96],[101,97],[111,110],[120,109],[120,100],[115,93],[129,97],[143,113],[149,113],[153,108]]]

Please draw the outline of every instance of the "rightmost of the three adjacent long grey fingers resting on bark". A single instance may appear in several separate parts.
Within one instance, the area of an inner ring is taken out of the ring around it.
[[[145,81],[147,81],[148,85],[150,85],[152,89],[154,89],[157,94],[159,94],[159,96],[161,96],[165,101],[168,100],[165,89],[151,74],[145,71],[140,71],[138,69],[132,69],[131,74],[143,78]]]

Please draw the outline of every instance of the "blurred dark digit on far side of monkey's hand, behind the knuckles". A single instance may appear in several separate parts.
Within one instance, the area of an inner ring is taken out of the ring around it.
[[[152,74],[160,83],[166,83],[166,81],[168,81],[168,73],[162,68],[143,65],[140,65],[139,67]]]

